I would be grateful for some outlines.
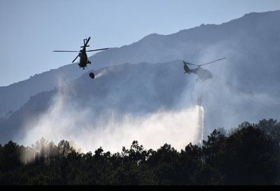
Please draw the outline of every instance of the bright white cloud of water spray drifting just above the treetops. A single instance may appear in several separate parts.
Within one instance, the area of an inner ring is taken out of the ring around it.
[[[100,146],[104,150],[120,152],[123,146],[129,148],[132,141],[139,141],[145,148],[160,148],[165,143],[180,150],[188,143],[201,140],[201,108],[190,106],[172,111],[160,109],[155,113],[141,116],[116,112],[104,118],[95,118],[91,108],[77,109],[75,104],[65,101],[62,88],[52,98],[48,111],[36,120],[29,120],[23,129],[20,141],[31,146],[43,137],[58,143],[61,140],[74,141],[82,152],[94,151]],[[97,121],[96,121],[97,120]]]

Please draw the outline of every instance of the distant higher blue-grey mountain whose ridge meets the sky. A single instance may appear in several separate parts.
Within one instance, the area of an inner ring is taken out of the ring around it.
[[[175,34],[150,34],[136,43],[111,48],[90,57],[94,69],[123,63],[169,62],[188,59],[190,62],[208,62],[216,57],[227,57],[226,71],[233,83],[255,90],[279,92],[280,80],[280,10],[250,13],[223,24],[202,24]],[[239,72],[236,69],[240,68]],[[248,77],[248,71],[260,70]],[[28,80],[0,87],[0,116],[15,111],[30,96],[78,78],[83,71],[75,64],[35,75]],[[265,78],[264,78],[265,76]],[[258,80],[258,87],[255,81]],[[266,84],[270,83],[269,86]],[[279,95],[279,94],[278,94]]]

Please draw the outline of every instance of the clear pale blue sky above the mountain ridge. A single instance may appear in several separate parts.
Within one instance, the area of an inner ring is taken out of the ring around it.
[[[120,47],[279,9],[279,0],[0,0],[0,86],[70,64],[76,55],[52,50],[79,50],[85,35],[92,49]]]

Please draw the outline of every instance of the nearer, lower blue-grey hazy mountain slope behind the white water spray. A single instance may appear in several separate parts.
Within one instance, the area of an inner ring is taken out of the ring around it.
[[[80,134],[85,127],[93,130],[97,123],[106,124],[112,118],[123,121],[127,116],[137,119],[161,110],[181,111],[197,104],[198,96],[203,99],[205,134],[244,120],[279,118],[278,97],[244,90],[218,74],[205,83],[196,83],[196,76],[184,74],[182,65],[176,60],[109,66],[94,71],[94,80],[85,73],[69,85],[31,97],[20,110],[0,122],[0,140],[22,140],[34,127],[45,123],[55,122],[57,128],[67,129],[69,120],[74,126],[71,132]]]

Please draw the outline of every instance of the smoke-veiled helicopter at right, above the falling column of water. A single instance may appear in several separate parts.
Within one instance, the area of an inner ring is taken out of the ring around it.
[[[216,60],[214,60],[212,62],[208,62],[206,64],[211,64],[211,63],[217,62],[221,59],[225,59],[225,57],[220,58],[220,59],[216,59]],[[183,61],[183,64],[184,64],[183,69],[185,70],[185,73],[195,73],[198,76],[196,81],[202,80],[202,82],[204,82],[205,80],[207,80],[209,78],[212,78],[211,71],[209,71],[207,69],[202,69],[202,67],[201,67],[201,66],[204,66],[206,64],[191,64],[191,63],[188,63],[188,62],[185,62],[185,61]],[[190,69],[187,64],[195,65],[195,66],[197,66],[197,68]]]

